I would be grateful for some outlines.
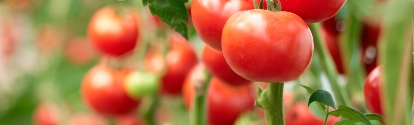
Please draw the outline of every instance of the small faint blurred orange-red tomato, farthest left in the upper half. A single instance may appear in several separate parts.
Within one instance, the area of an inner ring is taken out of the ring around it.
[[[95,58],[95,51],[86,39],[69,41],[65,49],[66,57],[76,65],[85,65]]]

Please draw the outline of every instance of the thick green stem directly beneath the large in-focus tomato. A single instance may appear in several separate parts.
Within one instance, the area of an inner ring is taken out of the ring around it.
[[[263,108],[268,125],[284,125],[283,116],[284,83],[269,83],[267,89],[259,90],[256,106]]]

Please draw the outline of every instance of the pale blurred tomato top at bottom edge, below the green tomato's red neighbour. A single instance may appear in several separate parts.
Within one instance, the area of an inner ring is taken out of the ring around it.
[[[104,118],[92,114],[75,114],[69,125],[108,125]]]

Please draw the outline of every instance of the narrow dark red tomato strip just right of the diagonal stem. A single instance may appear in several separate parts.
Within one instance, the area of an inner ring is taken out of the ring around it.
[[[328,47],[329,54],[331,55],[338,73],[344,74],[345,71],[342,65],[341,52],[339,48],[339,30],[340,22],[335,18],[331,18],[322,23],[322,38],[324,39],[325,46]]]

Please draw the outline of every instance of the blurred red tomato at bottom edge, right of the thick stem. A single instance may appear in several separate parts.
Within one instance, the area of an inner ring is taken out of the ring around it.
[[[299,102],[290,108],[286,117],[286,125],[323,125],[324,119],[314,116],[306,103]],[[335,125],[340,119],[330,116],[327,125]]]

